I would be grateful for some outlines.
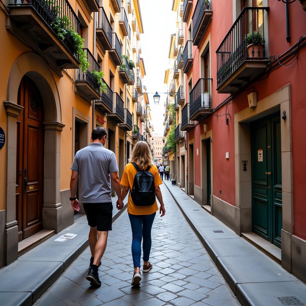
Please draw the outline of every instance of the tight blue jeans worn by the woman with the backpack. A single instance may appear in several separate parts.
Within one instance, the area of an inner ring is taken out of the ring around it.
[[[134,268],[140,267],[141,238],[144,237],[142,249],[143,260],[149,261],[151,251],[151,229],[156,211],[152,215],[131,215],[129,214],[132,227],[132,257]]]

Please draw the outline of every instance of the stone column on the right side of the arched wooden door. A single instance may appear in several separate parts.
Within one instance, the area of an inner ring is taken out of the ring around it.
[[[62,203],[60,194],[61,132],[64,124],[43,122],[45,126],[44,147],[44,192],[43,192],[43,228],[63,229]]]

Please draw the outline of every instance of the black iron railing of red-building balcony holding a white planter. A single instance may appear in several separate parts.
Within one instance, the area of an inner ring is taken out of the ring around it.
[[[190,91],[190,117],[199,110],[211,108],[211,81],[212,79],[199,79]]]

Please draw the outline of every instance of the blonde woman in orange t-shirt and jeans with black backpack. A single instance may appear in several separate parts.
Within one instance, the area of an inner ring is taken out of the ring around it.
[[[125,166],[121,178],[122,200],[128,194],[128,214],[132,228],[132,258],[134,274],[131,285],[139,286],[141,281],[140,257],[143,238],[143,273],[149,272],[153,264],[149,262],[151,251],[151,228],[156,215],[163,217],[166,213],[159,185],[162,181],[157,168],[153,165],[149,146],[144,141],[136,143],[130,163]],[[156,197],[159,200],[158,208]]]

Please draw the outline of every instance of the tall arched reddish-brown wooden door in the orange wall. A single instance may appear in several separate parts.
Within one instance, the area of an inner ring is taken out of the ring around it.
[[[24,77],[18,91],[24,107],[17,118],[16,219],[18,240],[43,229],[43,104],[32,80]]]

